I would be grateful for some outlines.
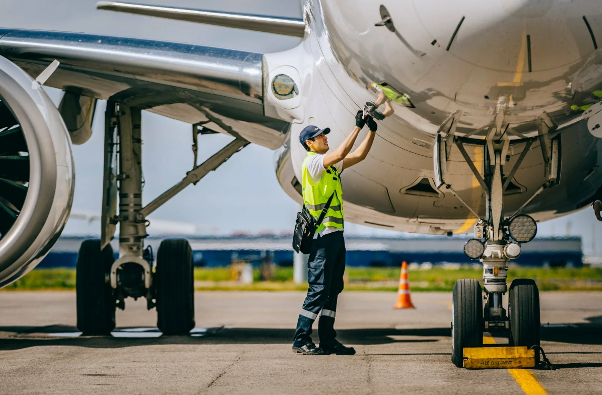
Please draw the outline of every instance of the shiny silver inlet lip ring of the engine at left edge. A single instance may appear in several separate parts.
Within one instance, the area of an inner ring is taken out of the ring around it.
[[[33,89],[33,79],[16,64],[0,57],[0,81],[0,98],[19,122],[29,151],[29,187],[25,202],[13,226],[0,240],[0,278],[5,278],[3,272],[9,270],[14,273],[7,278],[10,282],[25,270],[28,261],[20,258],[33,247],[51,213],[57,160],[46,122],[48,114],[42,111],[45,108],[42,93]],[[48,137],[40,142],[39,136]]]

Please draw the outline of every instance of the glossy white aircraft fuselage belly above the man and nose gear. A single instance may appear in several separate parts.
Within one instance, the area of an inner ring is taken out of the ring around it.
[[[382,19],[381,4],[394,31],[374,26]],[[414,107],[391,102],[394,113],[378,121],[368,158],[343,173],[346,220],[406,232],[470,232],[476,218],[433,183],[433,137],[455,111],[462,111],[456,134],[482,129],[473,135],[481,138],[500,112],[503,126],[527,137],[538,135],[544,113],[556,125],[574,122],[562,133],[559,184],[524,212],[540,221],[585,207],[602,184],[602,143],[579,121],[583,106],[602,96],[602,54],[594,48],[596,37],[602,41],[599,9],[593,0],[308,1],[302,44],[265,55],[266,114],[293,120],[290,142],[279,152],[282,187],[300,201],[294,188],[306,156],[300,130],[329,127],[329,145],[337,146],[353,129],[356,111],[376,101],[373,84],[385,82]],[[296,98],[270,96],[278,73],[295,80]],[[483,146],[467,151],[483,172]],[[508,151],[504,173],[520,151]],[[447,176],[462,200],[485,216],[483,190],[456,148]],[[504,196],[504,213],[514,213],[544,181],[536,142]]]

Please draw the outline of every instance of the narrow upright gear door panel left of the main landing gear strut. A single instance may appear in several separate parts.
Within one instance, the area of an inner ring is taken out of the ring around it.
[[[102,181],[101,250],[113,240],[117,216],[117,166],[115,161],[116,104],[107,101],[105,112],[104,175]]]

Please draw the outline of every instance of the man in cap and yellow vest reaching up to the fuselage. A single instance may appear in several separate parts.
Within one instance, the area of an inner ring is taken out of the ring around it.
[[[368,125],[364,141],[351,152],[359,132]],[[343,346],[337,341],[334,329],[337,313],[338,294],[343,291],[345,271],[345,241],[343,239],[343,190],[340,174],[343,169],[365,159],[374,142],[377,125],[374,119],[363,111],[355,117],[355,128],[337,148],[330,150],[326,135],[329,128],[307,126],[299,135],[299,142],[308,151],[303,161],[302,191],[305,208],[317,219],[326,207],[330,196],[332,201],[324,220],[315,231],[308,260],[307,296],[293,340],[293,351],[305,355],[337,354],[353,355],[353,347]],[[311,340],[312,325],[318,320],[320,347]]]

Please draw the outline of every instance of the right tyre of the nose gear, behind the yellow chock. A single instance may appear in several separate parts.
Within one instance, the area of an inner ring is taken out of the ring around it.
[[[508,294],[509,343],[512,346],[539,346],[539,290],[535,281],[518,278]],[[536,352],[536,354],[538,354]]]

